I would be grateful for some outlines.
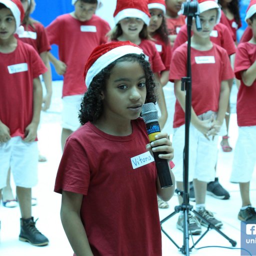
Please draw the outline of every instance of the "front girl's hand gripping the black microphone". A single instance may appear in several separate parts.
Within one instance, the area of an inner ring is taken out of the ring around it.
[[[173,159],[173,147],[168,139],[168,135],[165,132],[160,132],[155,135],[155,140],[150,144],[146,145],[147,150],[152,150],[153,152],[165,152],[164,154],[159,154],[159,158],[171,160]]]

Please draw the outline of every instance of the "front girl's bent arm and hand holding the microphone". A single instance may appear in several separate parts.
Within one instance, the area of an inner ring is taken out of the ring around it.
[[[160,132],[155,135],[156,140],[146,145],[147,150],[153,150],[154,152],[166,152],[166,154],[159,154],[159,158],[171,160],[173,158],[173,147],[168,139],[167,133]],[[164,201],[168,201],[174,194],[175,191],[175,177],[170,169],[171,180],[173,186],[161,188],[160,181],[157,176],[156,190],[157,195]]]

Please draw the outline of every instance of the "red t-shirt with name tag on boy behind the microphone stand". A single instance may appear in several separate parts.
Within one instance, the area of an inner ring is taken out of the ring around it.
[[[169,78],[181,80],[186,76],[187,44],[181,44],[173,52]],[[213,43],[210,50],[196,50],[191,47],[192,107],[196,115],[208,110],[218,111],[220,85],[222,80],[234,77],[226,50]],[[173,127],[184,124],[184,111],[178,100],[175,103]]]

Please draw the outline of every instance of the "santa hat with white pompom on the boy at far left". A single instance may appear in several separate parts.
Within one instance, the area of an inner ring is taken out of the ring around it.
[[[24,32],[24,27],[20,26],[24,18],[24,9],[20,0],[0,0],[0,3],[3,3],[7,8],[9,8],[15,18],[16,22],[16,31],[17,34],[22,34]]]

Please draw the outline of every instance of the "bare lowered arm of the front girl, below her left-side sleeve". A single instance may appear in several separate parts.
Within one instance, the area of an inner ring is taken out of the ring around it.
[[[80,218],[82,196],[82,194],[62,191],[60,218],[76,256],[93,256]]]

